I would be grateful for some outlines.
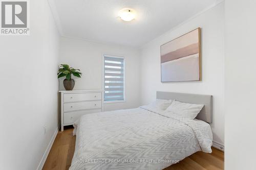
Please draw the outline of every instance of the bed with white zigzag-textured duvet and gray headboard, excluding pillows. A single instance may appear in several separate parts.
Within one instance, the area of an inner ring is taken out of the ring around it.
[[[212,96],[158,91],[157,99],[204,107],[194,120],[148,106],[84,115],[74,124],[70,170],[163,169],[195,152],[211,153]]]

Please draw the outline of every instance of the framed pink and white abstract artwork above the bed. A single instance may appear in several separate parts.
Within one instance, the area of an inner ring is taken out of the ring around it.
[[[161,82],[201,81],[201,29],[161,45]]]

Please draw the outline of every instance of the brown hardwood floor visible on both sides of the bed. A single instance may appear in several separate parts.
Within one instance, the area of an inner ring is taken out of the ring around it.
[[[42,169],[64,170],[69,169],[75,151],[76,137],[73,128],[66,127],[59,131],[46,163]],[[183,159],[179,163],[166,167],[164,170],[220,170],[224,169],[224,153],[212,148],[211,154],[197,152]]]

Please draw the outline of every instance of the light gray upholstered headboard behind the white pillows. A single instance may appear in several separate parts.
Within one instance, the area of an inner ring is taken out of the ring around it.
[[[204,104],[203,109],[196,118],[212,123],[212,95],[157,91],[157,99],[175,99],[184,103]]]

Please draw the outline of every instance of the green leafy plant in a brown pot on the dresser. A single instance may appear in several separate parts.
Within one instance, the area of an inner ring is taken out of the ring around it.
[[[82,73],[80,72],[80,69],[70,67],[68,64],[60,64],[58,79],[61,77],[66,77],[66,79],[63,81],[63,85],[66,90],[73,90],[75,86],[75,81],[71,77],[72,75],[80,78]]]

